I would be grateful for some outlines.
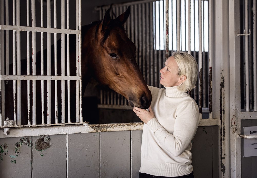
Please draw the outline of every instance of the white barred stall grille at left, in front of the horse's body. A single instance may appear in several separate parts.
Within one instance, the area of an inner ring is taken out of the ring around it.
[[[76,62],[76,74],[70,75],[70,71],[73,69],[70,70],[70,60],[72,59],[70,59],[70,48],[67,45],[70,34],[75,34],[76,56],[81,56],[81,0],[72,2],[69,0],[47,0],[46,2],[27,0],[22,1],[22,4],[20,0],[1,0],[0,3],[0,127],[6,126],[3,125],[3,121],[7,117],[13,118],[13,125],[8,125],[9,127],[20,126],[24,119],[21,118],[21,110],[24,108],[22,105],[26,105],[25,108],[27,108],[26,126],[70,124],[71,117],[76,118],[74,122],[82,122],[81,60]],[[74,8],[70,8],[70,6]],[[70,21],[71,17],[73,19]],[[53,19],[52,22],[51,19]],[[61,38],[61,63],[57,63],[58,38]],[[66,40],[67,44],[65,44]],[[54,58],[51,58],[51,44],[54,46],[54,50],[52,50]],[[47,49],[46,56],[44,56],[44,49]],[[36,64],[39,53],[41,53],[41,64]],[[21,63],[24,61],[22,57],[25,57],[26,68],[21,67]],[[47,73],[44,73],[43,68],[44,57],[47,58]],[[13,68],[12,70],[9,68],[9,64]],[[41,66],[40,72],[36,68],[37,65]],[[61,71],[57,72],[58,65],[61,65]],[[51,69],[54,70],[54,75],[51,74]],[[13,71],[12,75],[10,75],[10,71]],[[70,93],[71,81],[76,83],[76,93]],[[6,98],[5,85],[10,82],[13,83],[13,96]],[[21,91],[21,85],[24,82],[27,88],[25,91]],[[57,84],[60,84],[60,87]],[[36,90],[37,85],[41,86],[41,91]],[[52,88],[55,91],[52,96],[51,86],[54,86]],[[59,95],[61,103],[57,102],[58,91],[61,91],[61,95]],[[41,100],[36,98],[37,92],[41,93]],[[21,100],[24,93],[27,95],[26,104]],[[47,99],[44,99],[45,96]],[[51,103],[51,97],[54,97],[55,103]],[[71,116],[70,113],[71,97],[76,97],[76,114],[74,114],[76,116]],[[6,111],[10,108],[5,108],[5,101],[10,99],[13,100],[13,114],[7,115]],[[41,103],[41,110],[36,107],[38,103]],[[68,106],[65,103],[68,103]],[[47,107],[45,107],[46,105]],[[59,111],[58,106],[61,108]],[[51,115],[51,108],[56,114]],[[36,121],[37,112],[41,113],[40,123]],[[51,121],[53,118],[55,122]]]

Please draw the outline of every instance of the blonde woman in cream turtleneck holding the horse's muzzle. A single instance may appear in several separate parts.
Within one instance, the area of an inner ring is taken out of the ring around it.
[[[199,123],[196,102],[186,93],[195,88],[197,62],[188,53],[173,52],[160,70],[149,111],[134,107],[144,122],[139,177],[194,177],[191,140]]]

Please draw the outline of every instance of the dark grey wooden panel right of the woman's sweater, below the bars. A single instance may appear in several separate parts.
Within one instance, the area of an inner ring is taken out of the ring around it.
[[[195,177],[213,177],[213,159],[218,160],[218,156],[213,156],[213,146],[218,147],[218,142],[213,144],[212,127],[198,127],[192,140],[192,165],[194,166]],[[218,165],[216,167],[216,172],[218,172]]]

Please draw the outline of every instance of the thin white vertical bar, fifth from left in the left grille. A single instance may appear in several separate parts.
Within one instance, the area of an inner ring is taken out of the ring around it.
[[[27,4],[26,4],[26,8],[27,8],[27,27],[30,26],[30,16],[29,16],[29,0],[27,0]],[[29,31],[27,31],[27,75],[30,75],[30,33]],[[30,81],[27,81],[27,107],[28,107],[28,125],[31,125],[30,122]]]

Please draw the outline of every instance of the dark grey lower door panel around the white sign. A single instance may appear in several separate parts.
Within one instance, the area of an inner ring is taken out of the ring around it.
[[[244,127],[257,126],[257,119],[241,120],[241,134],[244,134]],[[244,157],[244,139],[241,139],[241,173],[243,177],[256,177],[257,156]]]

